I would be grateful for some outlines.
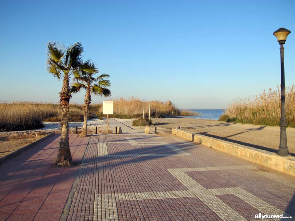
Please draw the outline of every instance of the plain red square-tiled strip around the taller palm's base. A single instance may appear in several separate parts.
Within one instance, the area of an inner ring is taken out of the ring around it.
[[[59,220],[77,167],[54,166],[58,134],[0,165],[0,220]],[[89,138],[69,134],[73,161],[81,161]]]

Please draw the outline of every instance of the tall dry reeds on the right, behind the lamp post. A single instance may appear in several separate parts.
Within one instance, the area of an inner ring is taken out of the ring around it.
[[[286,118],[295,127],[295,85],[286,88]],[[256,95],[254,99],[234,101],[219,118],[220,121],[278,126],[281,118],[281,88]]]

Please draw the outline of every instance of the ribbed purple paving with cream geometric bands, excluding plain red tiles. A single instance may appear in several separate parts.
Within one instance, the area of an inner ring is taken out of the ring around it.
[[[110,126],[122,125],[111,119]],[[122,127],[124,134],[90,138],[67,220],[295,216],[295,177],[202,145]]]

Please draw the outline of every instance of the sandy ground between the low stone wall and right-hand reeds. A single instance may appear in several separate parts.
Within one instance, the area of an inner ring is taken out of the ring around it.
[[[278,126],[226,123],[194,118],[151,118],[151,120],[159,134],[171,133],[172,128],[180,126],[181,129],[191,133],[200,133],[273,152],[278,149],[280,140]],[[153,126],[150,127],[150,132],[154,132]],[[287,128],[287,141],[289,152],[295,156],[295,128]]]

